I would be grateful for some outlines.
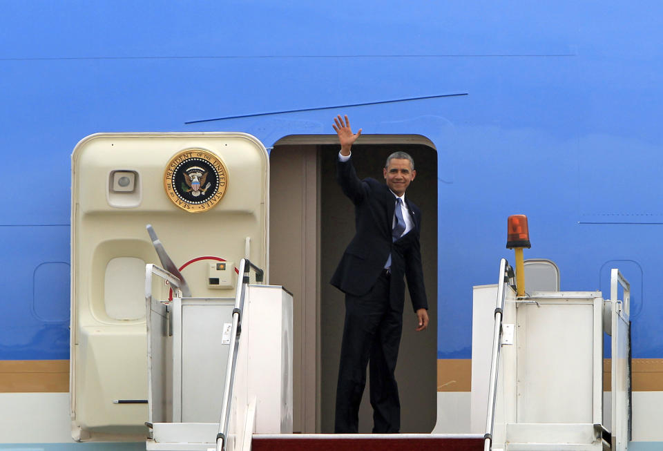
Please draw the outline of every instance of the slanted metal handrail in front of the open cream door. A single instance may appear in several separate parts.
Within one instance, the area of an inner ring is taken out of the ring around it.
[[[226,368],[226,380],[223,389],[223,401],[221,406],[221,420],[219,432],[216,436],[216,450],[226,449],[228,432],[230,429],[230,415],[233,403],[233,387],[235,385],[235,371],[237,368],[238,349],[240,347],[240,334],[242,333],[242,311],[244,310],[244,299],[249,285],[249,271],[256,272],[256,282],[262,282],[264,271],[253,265],[247,258],[240,261],[239,277],[241,283],[237,284],[235,295],[235,308],[233,309],[233,329],[231,331],[230,349],[228,351],[228,362]]]

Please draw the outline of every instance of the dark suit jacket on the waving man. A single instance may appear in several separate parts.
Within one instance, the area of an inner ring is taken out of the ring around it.
[[[396,198],[387,185],[372,178],[359,180],[352,165],[352,158],[347,162],[336,163],[336,180],[343,193],[354,203],[356,233],[332,276],[332,285],[353,296],[367,294],[380,276],[391,252],[392,298],[395,295],[402,308],[405,299],[405,276],[414,311],[427,309],[419,246],[419,208],[409,199],[405,200],[414,227],[396,242],[392,242]]]

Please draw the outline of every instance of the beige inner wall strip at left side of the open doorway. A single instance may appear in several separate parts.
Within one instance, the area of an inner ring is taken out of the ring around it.
[[[320,429],[317,146],[275,146],[269,160],[269,282],[293,294],[293,430],[314,433]]]

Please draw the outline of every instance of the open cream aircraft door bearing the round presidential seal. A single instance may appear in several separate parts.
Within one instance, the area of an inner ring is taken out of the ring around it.
[[[105,133],[72,155],[72,435],[146,434],[152,224],[195,297],[234,296],[220,260],[267,268],[269,159],[244,133]],[[227,272],[227,271],[226,271]],[[234,276],[234,274],[233,274]],[[219,400],[221,402],[221,400]]]

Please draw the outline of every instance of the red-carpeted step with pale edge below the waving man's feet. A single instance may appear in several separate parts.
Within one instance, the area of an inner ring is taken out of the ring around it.
[[[481,451],[479,434],[254,434],[252,451]]]

